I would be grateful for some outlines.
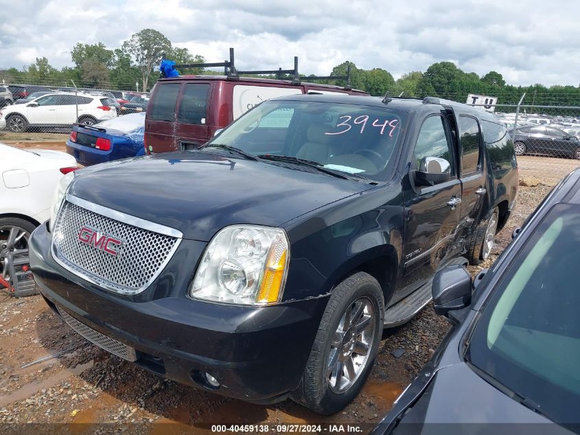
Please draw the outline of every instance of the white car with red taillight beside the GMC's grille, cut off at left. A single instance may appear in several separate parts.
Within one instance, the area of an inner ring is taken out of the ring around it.
[[[18,296],[34,292],[28,238],[49,219],[60,179],[76,169],[67,153],[0,144],[0,288]]]

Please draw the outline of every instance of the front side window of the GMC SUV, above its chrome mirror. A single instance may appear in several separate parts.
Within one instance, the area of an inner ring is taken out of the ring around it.
[[[445,159],[450,163],[451,172],[454,175],[453,154],[443,122],[441,116],[430,116],[423,122],[421,131],[419,131],[419,137],[417,137],[413,158],[415,159],[417,168],[421,166],[421,159],[424,157],[440,157],[441,159]]]

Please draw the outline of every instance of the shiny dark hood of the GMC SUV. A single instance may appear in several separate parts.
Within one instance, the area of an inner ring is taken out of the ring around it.
[[[227,225],[280,226],[374,187],[306,170],[202,151],[165,153],[79,170],[69,194],[209,241]]]

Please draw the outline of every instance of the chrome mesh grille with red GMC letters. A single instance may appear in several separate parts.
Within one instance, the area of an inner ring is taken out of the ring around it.
[[[103,237],[120,242],[108,245],[113,254],[103,249]],[[74,274],[108,290],[135,295],[161,273],[180,241],[181,233],[172,228],[67,195],[54,225],[52,252]]]

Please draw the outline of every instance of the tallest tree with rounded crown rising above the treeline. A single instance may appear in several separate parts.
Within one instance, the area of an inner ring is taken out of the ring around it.
[[[172,51],[172,45],[170,40],[161,32],[154,29],[143,29],[125,41],[122,49],[130,54],[137,63],[137,67],[141,71],[143,90],[146,90],[153,68],[159,65],[163,53]]]

